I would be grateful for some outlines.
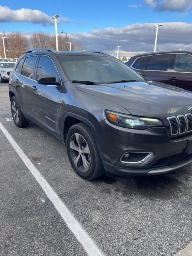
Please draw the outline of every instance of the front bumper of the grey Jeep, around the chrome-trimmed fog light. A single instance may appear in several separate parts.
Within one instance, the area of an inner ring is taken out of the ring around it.
[[[192,162],[192,154],[185,152],[192,134],[169,138],[165,127],[134,130],[116,126],[104,120],[100,123],[103,138],[103,164],[107,172],[115,175],[155,175],[176,170]],[[153,152],[141,164],[120,162],[125,152]]]

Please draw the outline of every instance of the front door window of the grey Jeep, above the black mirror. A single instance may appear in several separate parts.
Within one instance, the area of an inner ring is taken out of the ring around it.
[[[37,67],[37,78],[40,75],[52,74],[58,80],[58,72],[53,61],[47,56],[40,56]]]

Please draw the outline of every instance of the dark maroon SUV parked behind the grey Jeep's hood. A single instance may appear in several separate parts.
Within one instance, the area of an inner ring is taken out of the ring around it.
[[[136,55],[126,64],[153,81],[192,91],[192,52],[150,52]]]

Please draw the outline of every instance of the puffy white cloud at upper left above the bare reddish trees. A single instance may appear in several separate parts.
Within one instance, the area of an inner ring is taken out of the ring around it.
[[[58,22],[69,22],[68,18],[58,18]],[[0,22],[32,22],[44,26],[54,24],[54,20],[40,10],[21,8],[11,10],[7,6],[0,6]]]

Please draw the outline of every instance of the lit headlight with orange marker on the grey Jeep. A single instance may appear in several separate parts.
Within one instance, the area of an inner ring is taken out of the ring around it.
[[[150,127],[164,126],[161,120],[156,118],[128,116],[124,114],[118,114],[106,110],[106,116],[109,122],[130,129],[145,130]]]

